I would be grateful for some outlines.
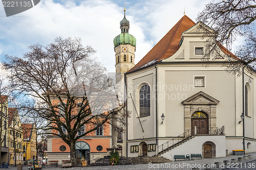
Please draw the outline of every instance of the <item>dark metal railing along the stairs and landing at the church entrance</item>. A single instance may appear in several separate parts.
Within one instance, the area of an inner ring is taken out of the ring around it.
[[[223,134],[223,127],[221,128],[196,128],[196,134],[200,135],[200,134]],[[179,136],[168,140],[167,142],[161,144],[158,146],[158,153],[173,147],[175,144],[179,143],[182,140],[185,140],[191,136],[195,135],[195,128],[193,130],[189,129],[187,131],[185,131],[184,133],[180,134]]]

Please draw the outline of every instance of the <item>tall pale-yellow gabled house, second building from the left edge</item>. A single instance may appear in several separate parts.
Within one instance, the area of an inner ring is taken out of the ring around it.
[[[19,120],[17,108],[8,108],[8,141],[10,164],[22,164],[23,157],[23,130]]]

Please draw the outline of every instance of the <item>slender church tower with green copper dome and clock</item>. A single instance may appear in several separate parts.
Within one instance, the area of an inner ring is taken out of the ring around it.
[[[136,50],[136,38],[129,34],[130,22],[124,17],[120,21],[121,34],[114,38],[114,49],[116,53],[116,82],[124,85],[124,73],[134,67]],[[119,89],[123,92],[123,86]],[[122,95],[121,95],[122,96]],[[122,99],[120,99],[122,100]]]

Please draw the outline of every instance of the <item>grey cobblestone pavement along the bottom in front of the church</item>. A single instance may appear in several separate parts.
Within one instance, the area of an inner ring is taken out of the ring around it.
[[[65,168],[65,170],[73,170],[73,169],[81,169],[81,170],[95,170],[95,169],[117,169],[117,170],[130,170],[130,169],[193,169],[197,167],[198,169],[206,169],[205,167],[209,167],[208,169],[256,169],[256,152],[249,153],[246,155],[252,155],[253,159],[249,159],[243,162],[238,162],[237,164],[231,164],[224,166],[224,160],[231,160],[232,158],[243,157],[244,155],[229,155],[222,158],[211,158],[211,159],[196,159],[196,160],[181,160],[181,161],[173,161],[169,163],[161,163],[161,164],[136,164],[136,165],[115,165],[115,166],[88,166],[88,167],[71,167]],[[222,167],[216,168],[215,162],[220,162]],[[10,170],[17,169],[17,167],[10,166]],[[23,166],[23,169],[28,169],[28,166]],[[43,170],[60,170],[61,167],[46,167]]]

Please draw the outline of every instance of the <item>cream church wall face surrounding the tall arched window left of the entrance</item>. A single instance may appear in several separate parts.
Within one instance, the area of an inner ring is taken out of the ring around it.
[[[156,137],[156,122],[155,122],[155,69],[148,68],[146,71],[141,71],[139,74],[127,75],[127,98],[128,104],[127,109],[131,112],[131,117],[128,118],[128,139],[142,139],[142,138],[153,138]],[[139,112],[139,91],[143,85],[149,85],[151,91],[151,115],[140,117],[141,125],[144,132],[142,132],[139,118],[137,116],[131,95],[133,96],[136,109]]]

